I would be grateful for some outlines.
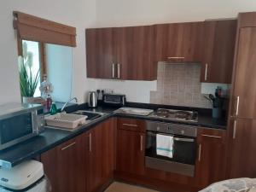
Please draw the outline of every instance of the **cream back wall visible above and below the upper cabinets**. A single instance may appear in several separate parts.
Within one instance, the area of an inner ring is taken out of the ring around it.
[[[137,26],[155,23],[196,21],[236,17],[239,12],[256,11],[255,0],[96,0],[96,26]],[[155,82],[96,80],[96,87],[118,90],[128,101],[149,102]],[[220,84],[201,84],[202,93],[212,93]],[[226,85],[222,84],[226,87]],[[116,88],[117,87],[117,88]]]

